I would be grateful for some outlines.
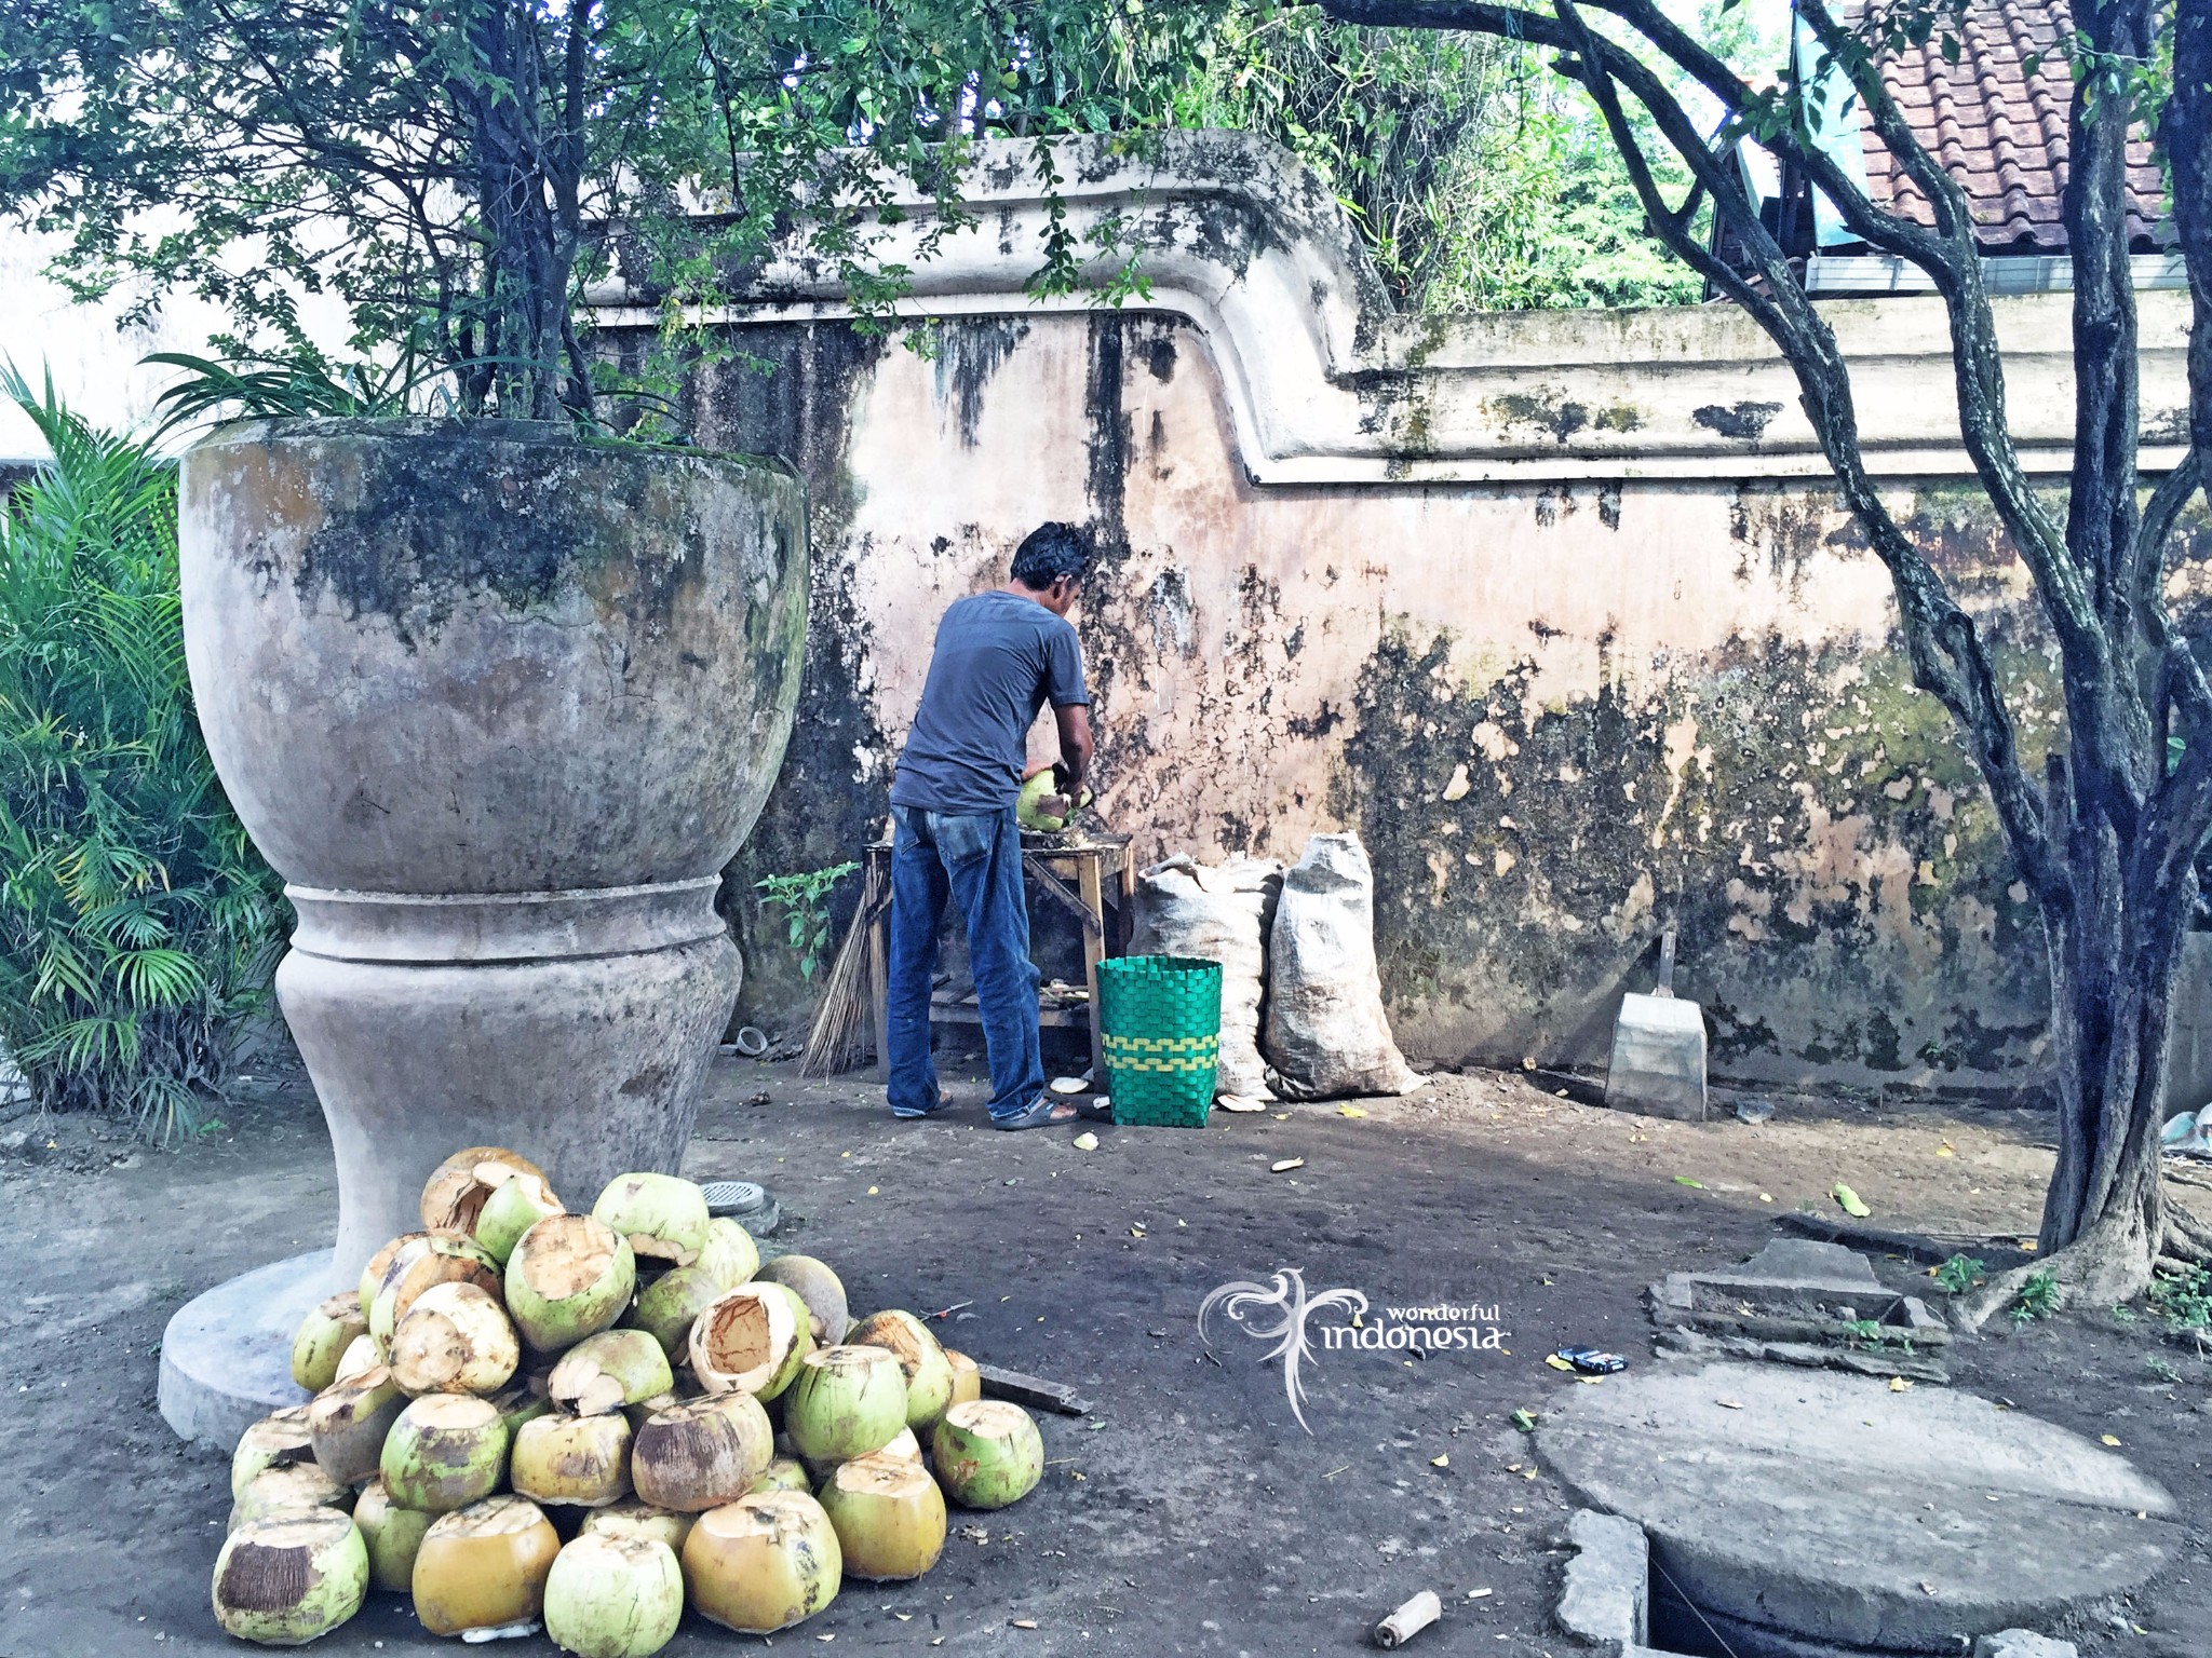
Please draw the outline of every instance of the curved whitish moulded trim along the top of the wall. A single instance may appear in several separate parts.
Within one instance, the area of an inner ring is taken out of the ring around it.
[[[1020,141],[978,146],[964,197],[978,223],[936,259],[933,219],[880,232],[880,256],[914,265],[902,316],[1091,312],[1088,294],[1022,292],[1042,259],[1044,190]],[[1511,312],[1413,318],[1389,309],[1340,208],[1281,148],[1237,133],[1170,133],[1141,155],[1106,139],[1057,144],[1077,239],[1121,217],[1146,245],[1152,296],[1208,343],[1237,451],[1256,484],[1825,478],[1796,380],[1730,305],[1644,312]],[[1108,274],[1102,261],[1091,276]],[[834,267],[765,265],[752,301],[701,314],[759,325],[849,318]],[[646,296],[591,294],[599,327],[655,327]],[[2146,292],[2141,464],[2181,458],[2188,298]],[[2073,442],[2070,301],[1995,301],[2022,464],[2064,473]],[[1829,301],[1851,360],[1869,466],[1882,478],[1969,475],[1958,440],[1949,332],[1936,298]]]

